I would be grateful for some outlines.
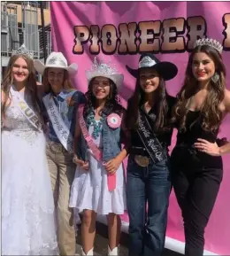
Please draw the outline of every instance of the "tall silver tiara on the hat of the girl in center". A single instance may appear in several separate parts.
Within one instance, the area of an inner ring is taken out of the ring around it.
[[[98,74],[118,74],[117,68],[111,63],[111,60],[107,63],[103,60],[97,59],[95,57],[93,64],[90,66],[88,72],[96,72]]]

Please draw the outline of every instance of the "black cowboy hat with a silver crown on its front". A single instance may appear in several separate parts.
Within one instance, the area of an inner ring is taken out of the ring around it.
[[[168,61],[160,62],[152,53],[142,53],[139,59],[138,69],[133,69],[126,65],[127,71],[135,78],[138,76],[140,69],[144,67],[153,67],[164,80],[173,79],[178,72],[177,66],[173,63]]]

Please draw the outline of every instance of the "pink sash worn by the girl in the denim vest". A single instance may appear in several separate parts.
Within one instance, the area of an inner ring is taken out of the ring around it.
[[[78,109],[78,113],[79,113],[79,122],[80,122],[80,129],[81,129],[82,135],[84,136],[88,144],[88,148],[92,151],[96,160],[98,162],[102,162],[103,153],[97,148],[96,144],[93,142],[92,137],[89,136],[88,134],[88,128],[86,126],[86,122],[83,117],[83,110],[84,110],[84,105],[80,105]],[[107,175],[107,183],[108,183],[109,191],[116,189],[116,173],[113,175],[109,175],[109,174]]]

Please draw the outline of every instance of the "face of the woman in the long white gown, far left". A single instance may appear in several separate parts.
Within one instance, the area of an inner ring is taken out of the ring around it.
[[[17,58],[12,66],[12,78],[14,83],[27,81],[29,75],[27,61],[24,58]]]

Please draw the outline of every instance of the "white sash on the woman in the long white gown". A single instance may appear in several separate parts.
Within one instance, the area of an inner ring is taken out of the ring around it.
[[[19,111],[26,117],[26,119],[39,131],[42,131],[42,123],[38,119],[35,112],[27,105],[27,102],[20,96],[19,91],[12,89],[12,100],[19,108]]]

